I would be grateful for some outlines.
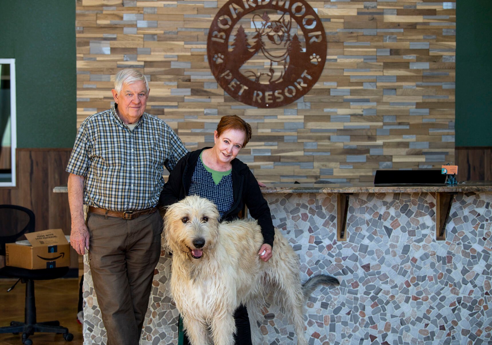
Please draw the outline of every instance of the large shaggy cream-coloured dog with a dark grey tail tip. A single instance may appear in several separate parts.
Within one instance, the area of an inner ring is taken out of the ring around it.
[[[232,345],[236,308],[247,304],[248,313],[257,315],[271,288],[294,324],[297,344],[307,345],[307,296],[318,284],[338,280],[319,275],[301,285],[297,254],[277,229],[273,256],[263,262],[258,256],[263,236],[256,221],[218,219],[215,204],[198,196],[171,205],[164,216],[164,244],[173,252],[171,294],[191,344]]]

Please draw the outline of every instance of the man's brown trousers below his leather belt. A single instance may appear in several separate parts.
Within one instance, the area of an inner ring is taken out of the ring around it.
[[[87,214],[89,265],[108,345],[137,345],[160,256],[159,212],[132,220]]]

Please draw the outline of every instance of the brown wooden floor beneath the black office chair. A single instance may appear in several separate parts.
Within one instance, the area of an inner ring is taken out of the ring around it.
[[[19,282],[7,292],[15,279],[0,279],[0,327],[10,321],[24,321],[26,285]],[[65,342],[61,334],[34,333],[29,337],[33,345],[82,345],[82,325],[77,322],[79,280],[77,278],[35,281],[37,321],[59,320],[73,334],[73,340]],[[0,334],[0,345],[22,345],[22,335]]]

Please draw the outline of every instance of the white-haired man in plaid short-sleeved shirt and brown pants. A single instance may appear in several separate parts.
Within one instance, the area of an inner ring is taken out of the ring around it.
[[[160,255],[164,166],[172,170],[186,149],[169,125],[145,113],[142,73],[119,71],[112,93],[115,105],[80,125],[66,168],[70,243],[79,254],[89,250],[108,344],[135,345]]]

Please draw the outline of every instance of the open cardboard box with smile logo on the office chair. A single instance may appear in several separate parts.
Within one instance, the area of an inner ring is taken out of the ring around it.
[[[62,229],[50,229],[25,234],[31,245],[7,243],[5,263],[7,266],[32,270],[70,265],[70,244]]]

